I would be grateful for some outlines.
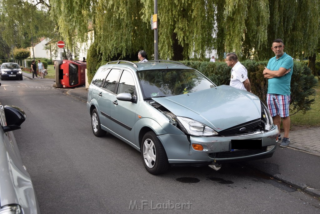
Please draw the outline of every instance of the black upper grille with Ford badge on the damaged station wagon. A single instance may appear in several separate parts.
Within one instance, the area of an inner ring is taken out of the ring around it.
[[[219,134],[221,136],[235,136],[235,135],[250,134],[255,131],[263,131],[262,123],[263,122],[261,119],[252,120],[247,123],[243,123],[243,124],[225,129],[219,132]],[[245,130],[240,131],[240,129],[243,129],[243,128],[245,128]]]

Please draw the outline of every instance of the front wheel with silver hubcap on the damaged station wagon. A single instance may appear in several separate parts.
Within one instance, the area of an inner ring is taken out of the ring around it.
[[[169,168],[167,154],[154,132],[148,132],[143,136],[141,156],[144,167],[153,175],[164,173]]]

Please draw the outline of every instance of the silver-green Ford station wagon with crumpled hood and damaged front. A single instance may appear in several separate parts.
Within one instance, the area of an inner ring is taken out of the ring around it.
[[[223,162],[271,157],[279,130],[254,94],[216,86],[184,64],[155,60],[102,65],[88,90],[92,131],[141,152],[151,174],[170,166],[218,170]]]

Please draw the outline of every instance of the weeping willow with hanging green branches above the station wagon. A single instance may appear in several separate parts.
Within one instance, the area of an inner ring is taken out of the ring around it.
[[[150,17],[154,0],[51,0],[52,17],[69,46],[94,39],[104,60],[135,56],[152,59]],[[311,56],[319,46],[320,0],[158,0],[159,56],[218,58],[236,52],[241,59],[269,59],[271,43],[285,42],[293,57]]]

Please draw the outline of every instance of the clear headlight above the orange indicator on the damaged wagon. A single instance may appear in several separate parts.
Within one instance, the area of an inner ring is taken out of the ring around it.
[[[209,126],[187,117],[177,116],[177,121],[184,133],[195,136],[213,136],[218,133]]]

